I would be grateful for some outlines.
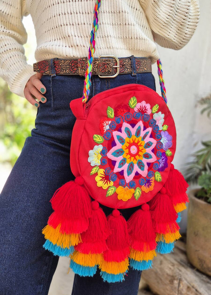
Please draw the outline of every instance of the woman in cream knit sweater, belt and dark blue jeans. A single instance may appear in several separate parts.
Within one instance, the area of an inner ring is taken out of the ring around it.
[[[94,0],[1,0],[0,76],[10,90],[38,108],[35,128],[1,192],[1,295],[47,295],[58,257],[43,248],[41,230],[52,213],[54,191],[74,179],[69,148],[74,115],[69,102],[82,96],[85,58],[92,28]],[[37,48],[34,68],[23,44],[22,17],[31,14]],[[151,63],[159,58],[155,45],[178,50],[190,40],[199,19],[198,0],[103,0],[96,40],[89,99],[106,89],[138,83],[155,90]],[[135,58],[142,57],[142,58]],[[35,73],[35,71],[37,73]],[[107,78],[101,78],[102,75]],[[99,76],[100,75],[100,76]],[[110,209],[104,207],[107,215]],[[122,210],[126,219],[133,209]],[[75,275],[73,295],[138,292],[140,271],[129,269],[122,283]]]

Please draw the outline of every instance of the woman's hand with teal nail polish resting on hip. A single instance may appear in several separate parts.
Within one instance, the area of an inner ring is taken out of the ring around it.
[[[26,83],[23,91],[27,101],[29,101],[30,104],[33,104],[37,108],[40,106],[40,104],[35,99],[38,99],[40,102],[43,103],[47,101],[46,97],[43,96],[43,94],[46,93],[46,87],[40,81],[40,78],[42,76],[42,73],[36,73],[35,75],[31,76]]]

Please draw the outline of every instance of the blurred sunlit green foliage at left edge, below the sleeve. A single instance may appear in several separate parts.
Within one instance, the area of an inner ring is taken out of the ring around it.
[[[1,78],[0,94],[0,162],[14,165],[34,128],[37,108],[12,93]]]

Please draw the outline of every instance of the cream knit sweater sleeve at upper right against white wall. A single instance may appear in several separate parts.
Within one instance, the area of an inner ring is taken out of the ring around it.
[[[178,50],[189,42],[199,20],[199,0],[139,1],[156,43]]]

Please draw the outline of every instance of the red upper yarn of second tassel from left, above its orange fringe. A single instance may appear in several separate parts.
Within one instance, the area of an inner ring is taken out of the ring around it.
[[[110,235],[108,221],[103,209],[97,201],[91,202],[92,214],[89,219],[88,229],[81,234],[82,243],[79,243],[75,250],[85,253],[103,253],[107,250],[106,239]]]

